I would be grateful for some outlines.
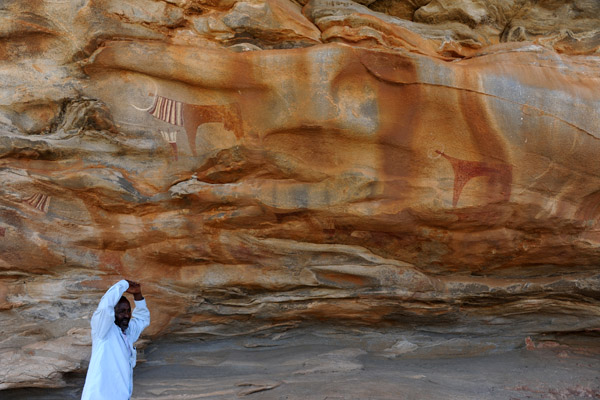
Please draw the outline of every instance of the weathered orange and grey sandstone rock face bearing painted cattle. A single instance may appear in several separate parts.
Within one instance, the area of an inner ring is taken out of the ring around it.
[[[600,326],[597,1],[5,0],[0,389],[147,339]],[[309,366],[310,367],[310,366]]]

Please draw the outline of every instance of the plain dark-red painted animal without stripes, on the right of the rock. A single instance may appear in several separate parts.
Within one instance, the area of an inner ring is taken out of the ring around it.
[[[456,207],[458,204],[460,194],[467,182],[478,176],[487,176],[490,178],[489,182],[491,185],[499,185],[499,194],[503,201],[508,201],[510,199],[512,166],[500,163],[459,160],[458,158],[444,154],[442,151],[437,150],[436,152],[448,160],[454,170],[453,207]]]

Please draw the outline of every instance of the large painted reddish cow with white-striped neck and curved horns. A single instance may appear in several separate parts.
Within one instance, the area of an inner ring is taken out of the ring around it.
[[[157,88],[158,89],[158,88]],[[238,103],[202,105],[188,104],[182,101],[160,96],[156,91],[150,94],[154,100],[150,107],[139,108],[154,118],[175,126],[182,126],[188,138],[193,155],[196,154],[196,130],[200,125],[210,122],[220,122],[225,129],[231,131],[239,139],[243,136],[242,113]]]

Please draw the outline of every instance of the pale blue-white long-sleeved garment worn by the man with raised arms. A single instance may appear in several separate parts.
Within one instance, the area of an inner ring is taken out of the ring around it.
[[[123,335],[115,324],[115,305],[129,288],[126,280],[115,283],[102,296],[92,316],[92,358],[82,400],[127,400],[133,390],[136,350],[133,343],[150,324],[146,300],[135,302],[129,326]]]

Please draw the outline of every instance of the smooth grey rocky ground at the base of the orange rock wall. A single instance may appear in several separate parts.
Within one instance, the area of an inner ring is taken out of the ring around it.
[[[600,399],[598,342],[339,331],[163,341],[140,352],[133,399]],[[74,374],[66,388],[0,398],[77,399],[82,384]]]

